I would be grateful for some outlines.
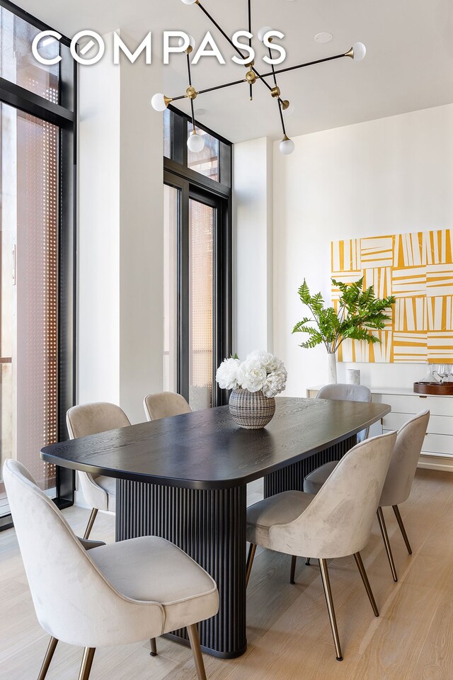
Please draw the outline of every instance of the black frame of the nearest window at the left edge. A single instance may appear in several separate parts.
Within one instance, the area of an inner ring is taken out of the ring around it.
[[[54,30],[8,0],[0,6],[39,30]],[[69,38],[59,41],[69,47]],[[72,58],[59,62],[59,102],[53,103],[27,89],[0,78],[0,101],[60,129],[59,224],[58,224],[58,441],[66,441],[66,412],[76,401],[76,181],[77,181],[77,64]],[[37,451],[37,455],[39,452]],[[57,467],[60,508],[74,504],[75,472]],[[0,531],[13,526],[11,515],[0,517]]]

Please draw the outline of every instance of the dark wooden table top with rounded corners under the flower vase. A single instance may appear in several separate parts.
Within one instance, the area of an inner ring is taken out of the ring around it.
[[[131,425],[41,450],[73,470],[189,489],[244,485],[365,429],[386,404],[278,397],[260,430],[237,426],[227,406]]]

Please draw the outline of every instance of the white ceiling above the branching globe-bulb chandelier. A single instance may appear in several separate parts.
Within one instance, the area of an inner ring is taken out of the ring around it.
[[[50,26],[71,37],[90,28],[99,33],[122,28],[143,36],[153,31],[159,46],[162,30],[185,30],[202,38],[210,23],[196,5],[181,0],[18,0]],[[226,33],[245,29],[246,0],[202,0]],[[453,102],[452,0],[253,0],[253,28],[272,26],[285,33],[284,66],[340,54],[353,42],[365,42],[363,62],[342,59],[282,74],[282,96],[296,106],[287,118],[289,136],[326,130],[364,120]],[[321,31],[333,34],[327,45],[314,42]],[[224,57],[234,52],[215,28],[212,33]],[[193,67],[197,89],[243,77],[232,62],[201,60]],[[258,70],[269,70],[258,60]],[[184,55],[165,67],[165,94],[187,87]],[[150,96],[154,94],[150,86]],[[197,98],[205,109],[201,123],[232,142],[281,137],[277,103],[257,82],[255,99],[248,86],[237,85]],[[187,102],[181,107],[188,111]]]

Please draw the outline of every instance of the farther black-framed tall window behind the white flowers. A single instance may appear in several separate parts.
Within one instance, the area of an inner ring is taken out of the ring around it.
[[[231,352],[231,144],[214,132],[188,151],[185,115],[164,114],[164,385],[194,410],[222,403]]]

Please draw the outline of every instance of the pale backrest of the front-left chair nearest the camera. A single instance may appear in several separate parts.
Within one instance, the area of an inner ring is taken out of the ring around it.
[[[21,463],[6,460],[3,473],[42,628],[57,640],[80,647],[122,644],[122,640],[126,644],[128,635],[121,630],[121,621],[132,615],[141,618],[139,605],[105,579],[57,506]],[[161,606],[156,604],[151,609],[144,611],[144,616],[151,616],[151,620],[155,616],[159,626],[163,621]]]

